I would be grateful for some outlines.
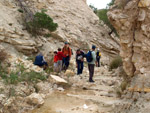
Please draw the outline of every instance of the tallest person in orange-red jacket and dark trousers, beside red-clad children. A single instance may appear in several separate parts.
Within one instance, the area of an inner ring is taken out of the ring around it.
[[[63,69],[67,70],[68,67],[69,67],[69,62],[70,62],[71,55],[72,55],[71,48],[69,47],[68,42],[65,42],[65,46],[63,47],[62,52],[63,52],[63,55],[64,55]]]

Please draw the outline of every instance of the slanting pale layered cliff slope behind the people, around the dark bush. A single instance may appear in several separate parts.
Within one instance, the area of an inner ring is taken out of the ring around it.
[[[107,56],[119,53],[118,39],[108,35],[109,29],[99,23],[85,0],[24,0],[23,3],[33,12],[46,9],[59,27],[52,37],[35,38],[24,28],[18,0],[1,0],[0,41],[9,52],[33,54],[40,48],[49,52],[68,41],[73,49],[85,49],[95,44]]]

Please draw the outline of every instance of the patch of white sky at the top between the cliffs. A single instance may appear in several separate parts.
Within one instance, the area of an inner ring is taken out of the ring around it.
[[[87,0],[88,5],[91,4],[98,9],[106,8],[106,5],[110,2],[111,0]]]

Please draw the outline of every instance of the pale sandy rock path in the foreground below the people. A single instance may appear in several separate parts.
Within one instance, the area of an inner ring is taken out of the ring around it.
[[[95,69],[95,83],[89,83],[88,71],[70,78],[73,86],[65,91],[54,91],[45,104],[32,113],[110,113],[114,104],[121,102],[114,87],[121,81],[107,68]]]

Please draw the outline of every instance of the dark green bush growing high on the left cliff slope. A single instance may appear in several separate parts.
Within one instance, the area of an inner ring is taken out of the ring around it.
[[[45,13],[45,10],[41,12],[37,12],[34,15],[32,21],[26,23],[27,30],[32,33],[33,35],[37,35],[43,29],[47,29],[51,32],[55,31],[58,27],[57,23],[53,22],[53,19]]]

